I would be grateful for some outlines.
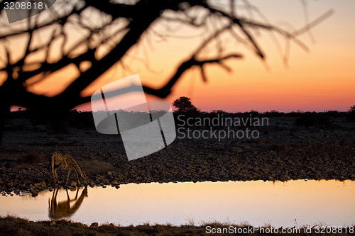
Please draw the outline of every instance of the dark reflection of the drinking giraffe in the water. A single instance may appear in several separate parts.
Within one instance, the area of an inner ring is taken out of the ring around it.
[[[80,208],[80,206],[82,205],[82,201],[84,201],[84,197],[87,197],[87,186],[82,190],[82,193],[80,194],[79,198],[77,197],[79,193],[79,189],[77,189],[77,193],[75,194],[74,199],[70,199],[69,193],[66,189],[67,200],[57,202],[58,191],[59,189],[55,189],[55,191],[53,191],[52,199],[50,201],[48,199],[48,205],[49,205],[48,215],[49,218],[53,220],[53,223],[54,220],[60,220],[62,218],[70,218],[77,211],[77,209]],[[71,204],[72,202],[74,203]]]

